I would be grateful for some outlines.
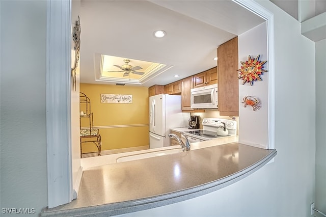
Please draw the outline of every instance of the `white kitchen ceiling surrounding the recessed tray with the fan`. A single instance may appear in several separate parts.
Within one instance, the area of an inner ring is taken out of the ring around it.
[[[166,85],[216,66],[216,47],[262,22],[230,0],[82,0],[80,82],[115,84],[97,81],[103,54],[173,66],[141,86]],[[153,37],[159,29],[165,38]]]

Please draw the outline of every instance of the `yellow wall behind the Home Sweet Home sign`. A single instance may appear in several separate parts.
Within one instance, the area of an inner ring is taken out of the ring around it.
[[[80,84],[80,92],[91,100],[94,128],[99,127],[102,150],[149,145],[148,88],[116,85]],[[101,94],[132,95],[132,103],[101,103]],[[85,112],[85,108],[82,107]],[[88,126],[82,119],[81,126]],[[128,126],[142,124],[144,126]],[[115,127],[127,125],[126,127]],[[83,144],[83,153],[97,151],[92,143]]]

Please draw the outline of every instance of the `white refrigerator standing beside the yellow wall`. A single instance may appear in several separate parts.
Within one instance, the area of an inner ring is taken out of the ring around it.
[[[181,96],[158,94],[149,97],[149,148],[170,146],[170,128],[187,127],[188,113],[181,111]]]

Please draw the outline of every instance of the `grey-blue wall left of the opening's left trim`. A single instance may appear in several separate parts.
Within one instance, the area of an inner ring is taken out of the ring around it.
[[[0,206],[37,214],[47,206],[46,1],[0,4]]]

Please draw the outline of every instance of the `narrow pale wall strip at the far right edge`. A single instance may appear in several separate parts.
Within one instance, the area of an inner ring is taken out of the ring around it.
[[[326,212],[326,39],[316,47],[316,201],[315,207]]]

